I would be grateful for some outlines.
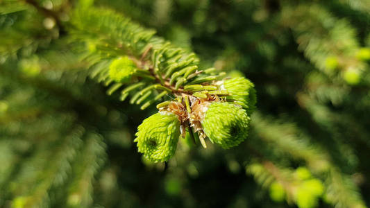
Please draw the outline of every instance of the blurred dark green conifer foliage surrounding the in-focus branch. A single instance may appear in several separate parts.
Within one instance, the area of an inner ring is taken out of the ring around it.
[[[249,78],[246,141],[142,159],[157,110],[89,78],[69,31],[83,4]],[[369,60],[368,0],[0,0],[0,207],[369,207]]]

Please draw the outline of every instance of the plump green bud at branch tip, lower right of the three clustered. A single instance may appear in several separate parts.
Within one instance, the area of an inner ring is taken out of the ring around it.
[[[228,149],[244,141],[250,121],[246,110],[241,107],[231,103],[214,102],[208,106],[201,124],[212,143]]]

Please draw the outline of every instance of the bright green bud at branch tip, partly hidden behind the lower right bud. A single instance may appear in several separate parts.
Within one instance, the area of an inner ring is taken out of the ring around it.
[[[255,109],[257,98],[253,83],[244,77],[232,78],[224,81],[223,86],[230,96],[228,99],[236,101],[238,105],[242,105],[248,114],[251,114]]]

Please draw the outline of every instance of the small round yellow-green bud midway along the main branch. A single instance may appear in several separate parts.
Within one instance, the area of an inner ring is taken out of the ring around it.
[[[128,83],[135,71],[135,63],[127,56],[115,59],[109,66],[109,76],[117,83]]]

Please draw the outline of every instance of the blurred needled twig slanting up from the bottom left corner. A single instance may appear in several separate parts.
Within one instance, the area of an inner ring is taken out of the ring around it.
[[[79,137],[82,135],[83,129],[76,128],[65,140],[58,141],[64,141],[64,144],[61,146],[56,145],[54,151],[43,150],[37,152],[35,157],[32,158],[33,161],[28,162],[28,166],[25,166],[22,170],[24,173],[21,173],[21,176],[23,175],[26,178],[20,177],[17,180],[17,185],[20,187],[13,187],[12,189],[15,195],[14,200],[12,200],[13,206],[37,207],[49,204],[48,192],[53,186],[60,186],[67,179],[67,173],[70,171],[69,163],[76,156],[76,149],[81,145]],[[48,157],[48,154],[56,155],[52,157],[53,160],[44,162],[46,158],[50,157],[50,155]],[[40,162],[42,162],[44,171],[36,171],[34,174],[30,174],[29,171],[35,168],[32,165],[37,166]],[[26,185],[33,181],[37,181],[37,185],[33,189],[28,189],[29,187],[26,187]]]

